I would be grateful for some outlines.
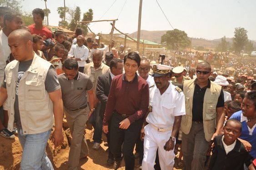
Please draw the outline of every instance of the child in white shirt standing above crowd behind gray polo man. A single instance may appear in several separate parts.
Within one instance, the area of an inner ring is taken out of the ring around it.
[[[84,68],[85,68],[85,61],[88,58],[89,55],[89,49],[85,47],[85,37],[82,35],[79,35],[76,38],[76,44],[72,45],[69,55],[73,57],[77,62],[79,69],[81,73],[84,73]]]

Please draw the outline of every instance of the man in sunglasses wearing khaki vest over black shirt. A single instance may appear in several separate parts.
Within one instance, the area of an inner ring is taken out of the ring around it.
[[[204,169],[210,141],[224,123],[223,91],[221,86],[208,79],[210,74],[211,65],[204,61],[196,67],[197,78],[183,83],[186,115],[181,119],[181,131],[186,170]]]

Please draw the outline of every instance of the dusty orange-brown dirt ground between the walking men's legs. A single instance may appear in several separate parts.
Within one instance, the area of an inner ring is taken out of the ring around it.
[[[102,138],[106,141],[105,135],[102,135]],[[88,129],[86,129],[86,141],[89,147],[89,157],[88,159],[80,160],[80,170],[112,170],[113,166],[106,164],[108,153],[106,152],[107,147],[104,146],[104,142],[101,143],[100,150],[93,150],[92,132]],[[67,169],[69,154],[67,138],[64,139],[62,146],[57,149],[54,149],[51,141],[49,141],[46,152],[51,162],[54,163],[55,170]],[[19,170],[21,154],[22,148],[17,136],[15,137],[15,140],[0,137],[0,170]],[[138,161],[139,160],[136,159],[135,170],[139,170]],[[124,161],[122,161],[122,166],[119,170],[125,170],[124,164]]]

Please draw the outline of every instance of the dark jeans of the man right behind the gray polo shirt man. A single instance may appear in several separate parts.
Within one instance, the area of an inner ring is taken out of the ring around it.
[[[98,103],[97,108],[95,111],[92,113],[92,115],[89,118],[89,122],[92,124],[94,128],[94,133],[93,133],[93,141],[96,143],[101,143],[101,134],[102,134],[102,118],[100,117],[100,107],[101,107],[101,102]]]

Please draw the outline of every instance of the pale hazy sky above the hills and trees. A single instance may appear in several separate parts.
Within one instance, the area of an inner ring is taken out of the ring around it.
[[[92,9],[94,19],[98,20],[115,0],[65,0],[66,6],[80,6],[81,13]],[[116,0],[101,19],[116,19],[115,26],[124,33],[133,33],[138,28],[140,0]],[[35,3],[36,2],[36,3]],[[256,40],[256,0],[158,0],[171,25],[184,30],[189,37],[218,39],[226,35],[233,37],[236,27],[244,27],[248,38]],[[45,8],[44,0],[22,0],[22,9],[31,12],[35,8]],[[50,9],[49,24],[58,25],[60,21],[57,8],[63,0],[47,0]],[[82,18],[82,16],[81,16]],[[92,23],[89,26],[95,33],[109,33],[109,22]],[[171,30],[170,24],[162,14],[156,0],[143,0],[141,29]]]

